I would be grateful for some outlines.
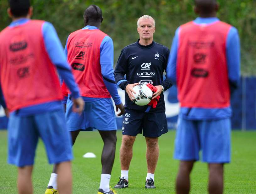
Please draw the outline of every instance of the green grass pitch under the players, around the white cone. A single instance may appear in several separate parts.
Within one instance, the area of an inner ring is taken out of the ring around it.
[[[112,170],[111,186],[119,180],[120,162],[119,148],[121,131],[117,132],[116,160]],[[159,140],[160,157],[155,172],[154,190],[145,190],[147,173],[145,159],[145,140],[139,135],[133,147],[133,160],[129,170],[129,188],[118,190],[119,194],[139,193],[175,193],[174,184],[178,161],[173,160],[173,144],[175,131],[163,135]],[[73,193],[97,193],[101,175],[102,141],[98,132],[81,132],[74,145],[73,161]],[[85,159],[86,152],[93,152],[96,158]],[[0,193],[17,193],[15,166],[7,162],[7,132],[0,131]],[[37,148],[35,168],[33,171],[34,193],[43,194],[51,174],[52,166],[47,163],[42,142]],[[207,165],[197,162],[193,169],[191,193],[207,193]],[[225,193],[253,194],[256,193],[256,132],[232,132],[232,162],[225,166]]]

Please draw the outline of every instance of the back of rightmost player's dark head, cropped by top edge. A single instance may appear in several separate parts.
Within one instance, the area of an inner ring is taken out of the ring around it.
[[[195,13],[200,17],[215,17],[218,8],[216,0],[195,0]]]

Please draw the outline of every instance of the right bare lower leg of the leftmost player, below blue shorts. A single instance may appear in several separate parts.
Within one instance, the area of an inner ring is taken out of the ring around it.
[[[71,162],[61,162],[57,166],[57,184],[58,192],[61,194],[72,193],[72,173],[71,173]]]

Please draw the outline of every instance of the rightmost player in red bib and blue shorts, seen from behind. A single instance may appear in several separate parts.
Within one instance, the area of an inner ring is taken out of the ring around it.
[[[237,29],[216,17],[216,0],[195,0],[194,21],[175,33],[167,74],[177,82],[181,113],[174,158],[180,160],[176,192],[189,193],[194,162],[209,167],[209,193],[223,193],[224,164],[231,156],[230,96],[240,77]]]

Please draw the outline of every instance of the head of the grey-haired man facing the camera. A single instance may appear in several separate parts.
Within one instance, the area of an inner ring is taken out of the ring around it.
[[[150,18],[142,18],[139,20],[138,33],[140,39],[150,39],[153,38],[155,32],[155,26],[153,20]]]

